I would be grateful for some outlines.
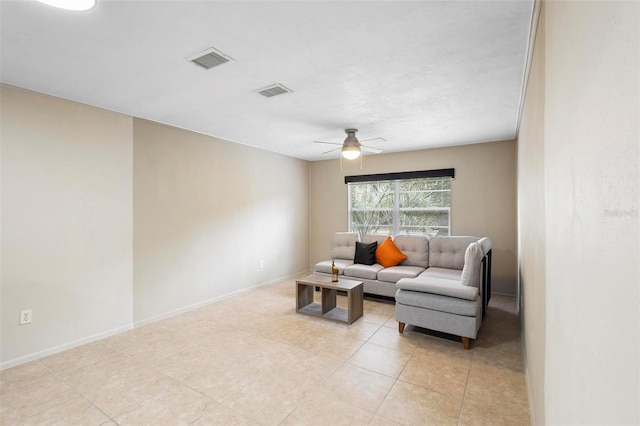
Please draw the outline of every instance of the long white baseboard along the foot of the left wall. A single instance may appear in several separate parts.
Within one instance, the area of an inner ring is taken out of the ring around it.
[[[193,310],[193,309],[200,308],[200,307],[208,305],[210,303],[214,303],[214,302],[217,302],[217,301],[220,301],[220,300],[228,299],[230,297],[237,296],[239,294],[249,292],[249,291],[251,291],[253,289],[256,289],[258,287],[264,287],[264,286],[267,286],[267,285],[273,285],[273,284],[276,284],[276,283],[279,283],[279,282],[282,282],[282,281],[285,281],[285,280],[293,279],[293,278],[296,278],[296,277],[299,277],[299,276],[303,276],[303,275],[307,275],[307,274],[309,274],[308,270],[307,271],[303,271],[303,272],[297,272],[297,273],[291,274],[291,275],[286,275],[284,277],[276,278],[276,279],[273,279],[273,280],[265,281],[265,282],[262,282],[260,284],[256,284],[254,286],[243,288],[241,290],[234,291],[232,293],[227,293],[227,294],[224,294],[222,296],[214,297],[212,299],[208,299],[208,300],[205,300],[203,302],[198,302],[198,303],[195,303],[195,304],[190,305],[190,306],[185,306],[183,308],[174,309],[173,311],[170,311],[170,312],[167,312],[167,313],[164,313],[164,314],[161,314],[161,315],[156,315],[154,317],[151,317],[151,318],[148,318],[148,319],[145,319],[145,320],[142,320],[142,321],[135,321],[132,324],[127,324],[127,325],[124,325],[122,327],[115,328],[113,330],[105,331],[103,333],[94,334],[92,336],[84,337],[82,339],[74,340],[74,341],[68,342],[68,343],[63,343],[62,345],[54,346],[54,347],[47,348],[47,349],[44,349],[44,350],[41,350],[41,351],[38,351],[38,352],[34,352],[32,354],[28,354],[28,355],[24,355],[24,356],[21,356],[21,357],[18,357],[18,358],[14,358],[14,359],[11,359],[9,361],[5,361],[3,363],[0,363],[0,371],[5,370],[7,368],[11,368],[11,367],[16,367],[16,366],[18,366],[20,364],[24,364],[24,363],[27,363],[27,362],[30,362],[30,361],[35,361],[35,360],[37,360],[39,358],[43,358],[45,356],[49,356],[49,355],[53,355],[53,354],[56,354],[56,353],[59,353],[59,352],[63,352],[63,351],[69,350],[69,349],[73,349],[73,348],[76,348],[78,346],[86,345],[87,343],[95,342],[97,340],[106,339],[107,337],[111,337],[111,336],[113,336],[115,334],[123,333],[125,331],[132,330],[133,328],[141,327],[143,325],[150,324],[152,322],[159,321],[159,320],[162,320],[162,319],[165,319],[165,318],[170,318],[170,317],[173,317],[175,315],[179,315],[181,313],[184,313],[184,312],[187,312],[187,311],[190,311],[190,310]]]

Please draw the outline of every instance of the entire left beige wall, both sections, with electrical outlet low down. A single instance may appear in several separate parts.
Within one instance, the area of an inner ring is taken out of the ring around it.
[[[1,90],[2,369],[308,268],[307,162]]]

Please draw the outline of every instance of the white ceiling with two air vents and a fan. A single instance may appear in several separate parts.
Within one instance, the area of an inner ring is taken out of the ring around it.
[[[515,136],[533,0],[0,2],[2,82],[319,160]],[[215,47],[235,61],[187,58]],[[272,83],[294,93],[265,98]]]

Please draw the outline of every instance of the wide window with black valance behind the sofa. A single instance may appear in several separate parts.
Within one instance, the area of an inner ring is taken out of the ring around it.
[[[443,172],[440,170],[348,176],[349,228],[360,237],[450,235],[453,169],[446,171],[444,176],[429,176],[444,174],[433,173]]]

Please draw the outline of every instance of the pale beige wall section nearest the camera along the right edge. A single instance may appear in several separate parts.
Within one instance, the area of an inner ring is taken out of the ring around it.
[[[640,424],[640,3],[545,7],[545,418]]]

